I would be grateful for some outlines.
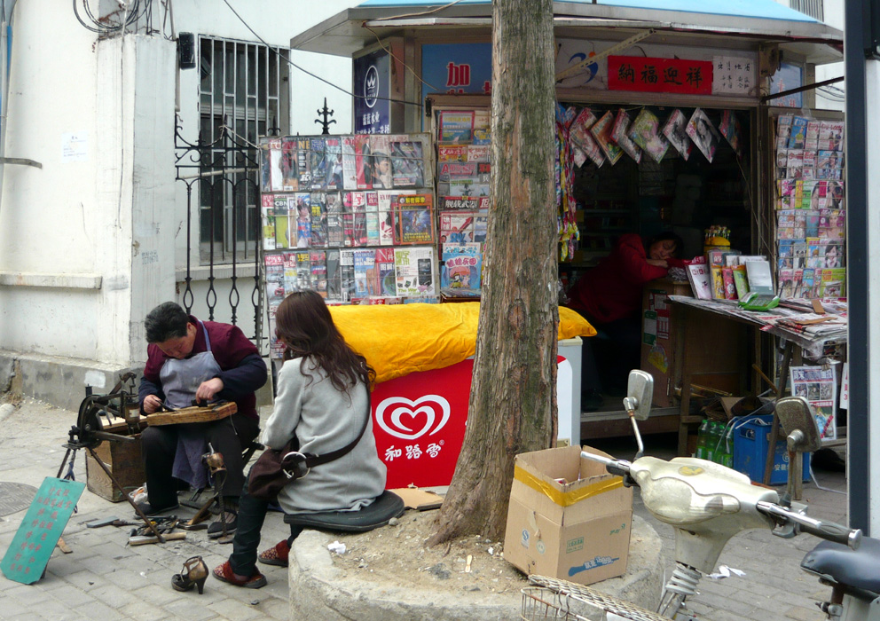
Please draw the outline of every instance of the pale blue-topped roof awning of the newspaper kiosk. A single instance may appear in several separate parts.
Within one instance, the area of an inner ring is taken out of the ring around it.
[[[491,0],[367,0],[339,12],[291,39],[296,50],[351,57],[375,43],[376,36],[488,35]],[[562,0],[554,2],[557,35],[577,36],[590,29],[655,28],[710,41],[758,39],[777,43],[817,65],[843,59],[843,32],[774,0]]]

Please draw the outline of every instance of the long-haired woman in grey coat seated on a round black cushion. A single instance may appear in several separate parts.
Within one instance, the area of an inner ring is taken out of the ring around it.
[[[336,329],[324,299],[314,291],[288,295],[275,316],[279,341],[286,346],[278,374],[275,408],[263,431],[263,444],[280,449],[293,436],[299,451],[324,454],[350,444],[370,413],[369,389],[374,373]],[[386,468],[376,452],[373,423],[339,459],[313,468],[279,493],[286,513],[357,511],[385,490]],[[214,577],[234,586],[260,588],[266,578],[256,569],[260,530],[269,503],[248,494],[239,502],[239,523],[232,554]],[[260,554],[263,562],[287,565],[287,551],[299,531]]]

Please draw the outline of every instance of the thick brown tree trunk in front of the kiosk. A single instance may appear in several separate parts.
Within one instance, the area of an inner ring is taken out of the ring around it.
[[[491,208],[468,430],[430,544],[504,536],[517,453],[556,436],[552,0],[494,0]]]

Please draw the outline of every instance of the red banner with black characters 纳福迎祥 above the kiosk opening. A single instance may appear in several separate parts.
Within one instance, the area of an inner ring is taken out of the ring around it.
[[[711,60],[608,57],[608,90],[711,95]]]

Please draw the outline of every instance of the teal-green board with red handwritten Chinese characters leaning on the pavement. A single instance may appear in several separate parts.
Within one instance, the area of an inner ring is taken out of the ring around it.
[[[52,550],[84,489],[85,483],[51,476],[43,479],[0,562],[0,570],[6,578],[31,585],[43,576]]]

